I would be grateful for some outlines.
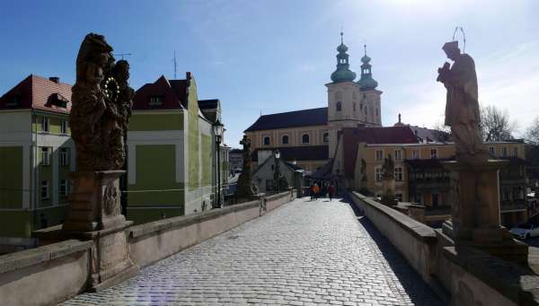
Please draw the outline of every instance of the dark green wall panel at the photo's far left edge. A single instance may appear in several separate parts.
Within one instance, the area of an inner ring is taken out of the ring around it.
[[[22,146],[0,147],[0,208],[22,208]]]

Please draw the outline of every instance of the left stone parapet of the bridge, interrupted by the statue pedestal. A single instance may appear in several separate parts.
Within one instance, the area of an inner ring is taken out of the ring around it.
[[[290,189],[222,209],[130,226],[127,232],[131,259],[139,267],[146,267],[294,198],[296,190]],[[0,304],[49,305],[84,292],[88,289],[92,248],[92,240],[65,240],[0,256]]]

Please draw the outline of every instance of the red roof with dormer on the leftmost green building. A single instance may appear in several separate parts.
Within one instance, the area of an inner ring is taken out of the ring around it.
[[[69,113],[71,109],[71,85],[54,82],[48,78],[30,74],[21,83],[0,97],[0,109],[40,109]],[[19,101],[13,104],[13,99]],[[66,108],[61,107],[61,103]]]

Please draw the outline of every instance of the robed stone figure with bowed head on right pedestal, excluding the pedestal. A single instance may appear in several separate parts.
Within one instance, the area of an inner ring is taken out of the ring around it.
[[[477,94],[477,75],[473,58],[461,54],[458,41],[447,42],[442,49],[455,61],[438,68],[437,82],[444,83],[446,96],[446,126],[451,127],[455,141],[456,160],[466,163],[486,162],[488,153],[482,146],[481,114]]]

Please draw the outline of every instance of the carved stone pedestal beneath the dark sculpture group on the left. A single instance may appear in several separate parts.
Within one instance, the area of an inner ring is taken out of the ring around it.
[[[119,177],[124,170],[74,172],[71,207],[62,236],[93,240],[89,288],[99,291],[137,275],[129,258],[126,228],[132,222],[120,214]]]

